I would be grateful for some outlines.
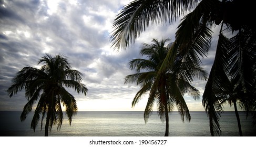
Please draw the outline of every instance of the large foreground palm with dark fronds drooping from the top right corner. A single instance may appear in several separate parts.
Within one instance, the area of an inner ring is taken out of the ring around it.
[[[216,25],[221,25],[216,58],[202,99],[203,107],[210,119],[211,135],[215,135],[221,132],[219,125],[220,114],[223,112],[221,98],[229,97],[226,90],[231,81],[233,86],[241,85],[240,98],[243,100],[237,102],[248,116],[249,113],[252,114],[253,124],[256,124],[256,25],[253,19],[245,17],[250,14],[254,14],[252,1],[136,0],[122,8],[117,15],[110,38],[112,47],[126,49],[135,42],[142,31],[147,29],[149,23],[171,24],[179,16],[185,15],[176,31],[176,40],[159,69],[156,81],[160,81],[161,75],[170,68],[169,66],[174,65],[178,53],[182,54],[183,58],[189,57],[194,64],[199,65],[199,57],[207,56],[210,49],[212,29]],[[234,38],[237,38],[227,46],[233,51],[232,54],[229,50],[221,49],[226,43],[224,34],[230,32],[233,33]],[[222,59],[217,58],[223,52],[227,56]],[[247,75],[245,67],[249,67],[248,70],[252,71],[248,77],[245,76]],[[238,89],[233,90],[237,92]]]

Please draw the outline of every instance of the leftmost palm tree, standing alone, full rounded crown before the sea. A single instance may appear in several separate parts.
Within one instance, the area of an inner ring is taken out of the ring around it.
[[[77,93],[82,92],[85,96],[88,89],[81,83],[82,74],[77,70],[71,69],[68,59],[63,55],[52,57],[46,54],[46,56],[38,60],[38,65],[40,63],[44,64],[40,69],[24,67],[18,71],[12,80],[12,86],[8,88],[7,92],[9,97],[12,97],[18,91],[25,89],[25,96],[28,102],[25,104],[21,114],[21,121],[26,119],[27,114],[32,111],[33,105],[38,101],[31,122],[31,129],[33,128],[35,131],[42,115],[42,130],[46,116],[45,136],[47,137],[48,131],[52,130],[54,124],[58,124],[57,130],[62,125],[62,104],[66,108],[66,115],[70,125],[72,117],[77,112],[75,97],[65,87],[73,88]]]

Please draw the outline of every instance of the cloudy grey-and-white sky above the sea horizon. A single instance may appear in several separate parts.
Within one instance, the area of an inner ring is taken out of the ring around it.
[[[0,111],[22,111],[27,100],[24,90],[9,98],[6,90],[16,72],[23,67],[40,68],[38,59],[47,54],[62,54],[73,69],[83,74],[88,88],[84,96],[69,90],[76,98],[78,111],[144,111],[147,95],[135,107],[132,99],[140,89],[124,84],[127,75],[135,74],[128,67],[131,59],[142,58],[142,43],[152,38],[175,40],[177,23],[157,24],[143,32],[135,44],[124,50],[111,48],[112,23],[129,0],[100,1],[0,1]],[[217,26],[218,27],[218,26]],[[217,31],[218,32],[218,31]],[[202,58],[202,67],[209,73],[213,64],[217,39]],[[202,95],[206,81],[192,83]],[[204,111],[202,99],[185,95],[190,111]],[[233,111],[229,106],[225,111]],[[154,111],[157,111],[155,108]]]

